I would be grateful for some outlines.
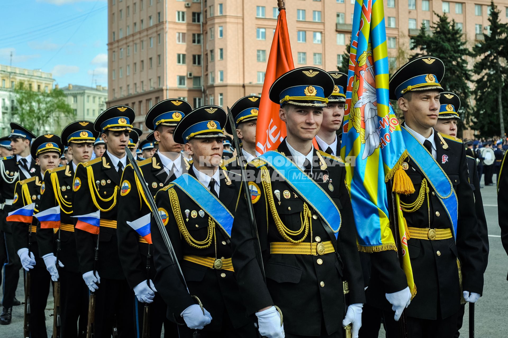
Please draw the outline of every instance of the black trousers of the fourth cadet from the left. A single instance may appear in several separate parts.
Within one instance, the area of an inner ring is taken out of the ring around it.
[[[127,281],[101,278],[96,291],[95,336],[108,338],[116,328],[118,338],[136,337],[135,302]]]

